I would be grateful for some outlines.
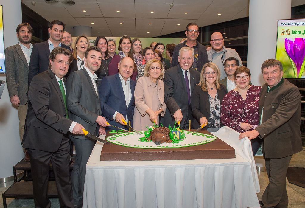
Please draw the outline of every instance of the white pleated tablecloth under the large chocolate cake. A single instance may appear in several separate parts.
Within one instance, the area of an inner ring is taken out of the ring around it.
[[[260,207],[251,143],[222,127],[213,133],[235,148],[236,158],[100,161],[97,142],[87,163],[84,208]]]

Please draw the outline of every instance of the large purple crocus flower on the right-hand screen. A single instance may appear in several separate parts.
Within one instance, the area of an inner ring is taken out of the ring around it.
[[[290,59],[296,64],[297,77],[299,77],[305,56],[305,38],[295,38],[294,41],[291,38],[285,38],[285,49]]]

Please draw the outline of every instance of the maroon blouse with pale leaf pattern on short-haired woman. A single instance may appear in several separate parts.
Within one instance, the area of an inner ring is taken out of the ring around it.
[[[250,85],[246,100],[242,98],[238,91],[234,90],[225,95],[221,103],[221,123],[240,133],[245,132],[240,127],[240,123],[251,124],[251,130],[255,129],[259,124],[260,89],[260,86]]]

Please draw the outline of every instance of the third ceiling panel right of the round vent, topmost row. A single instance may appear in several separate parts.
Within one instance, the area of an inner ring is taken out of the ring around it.
[[[153,11],[154,13],[151,13]],[[165,4],[136,4],[135,16],[137,18],[167,18],[170,7]]]

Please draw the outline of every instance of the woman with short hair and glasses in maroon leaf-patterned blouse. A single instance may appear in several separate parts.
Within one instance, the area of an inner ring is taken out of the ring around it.
[[[250,70],[246,66],[235,71],[237,88],[228,92],[221,103],[221,123],[238,132],[255,129],[259,125],[258,104],[260,86],[250,85]],[[260,147],[261,139],[251,140],[253,155]]]

